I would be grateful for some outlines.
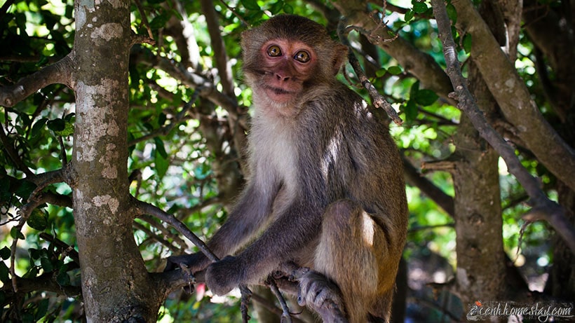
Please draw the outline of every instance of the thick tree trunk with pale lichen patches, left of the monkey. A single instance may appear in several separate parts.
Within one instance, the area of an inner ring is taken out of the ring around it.
[[[76,1],[74,219],[88,322],[155,322],[128,193],[130,1]]]

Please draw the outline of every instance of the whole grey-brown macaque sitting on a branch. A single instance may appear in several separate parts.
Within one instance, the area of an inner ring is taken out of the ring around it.
[[[208,242],[222,260],[173,256],[168,268],[205,269],[222,295],[295,263],[311,268],[300,303],[334,298],[349,322],[388,321],[407,232],[402,162],[387,126],[335,77],[348,49],[297,15],[243,32],[241,46],[255,108],[248,184]]]

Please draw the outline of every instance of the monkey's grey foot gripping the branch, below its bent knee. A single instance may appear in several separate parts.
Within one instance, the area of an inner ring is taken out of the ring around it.
[[[339,322],[339,318],[345,317],[345,306],[339,287],[314,270],[309,270],[299,279],[297,303],[316,310],[324,322]]]

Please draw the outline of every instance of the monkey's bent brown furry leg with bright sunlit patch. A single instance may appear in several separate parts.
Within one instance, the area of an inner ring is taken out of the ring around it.
[[[337,284],[351,323],[367,322],[370,310],[379,308],[379,299],[388,294],[379,277],[387,247],[381,227],[357,202],[338,200],[325,210],[314,270]]]

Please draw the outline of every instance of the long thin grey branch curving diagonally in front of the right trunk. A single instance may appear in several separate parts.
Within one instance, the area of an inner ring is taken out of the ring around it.
[[[451,24],[447,17],[445,4],[442,0],[432,0],[431,4],[433,6],[435,20],[438,22],[439,37],[443,44],[443,55],[447,63],[447,75],[449,75],[449,78],[452,80],[456,98],[459,100],[457,107],[467,114],[481,137],[489,142],[499,153],[503,160],[505,160],[509,172],[513,174],[515,178],[517,178],[517,181],[525,188],[525,191],[529,194],[529,198],[531,198],[531,204],[534,205],[530,215],[534,219],[545,219],[548,221],[549,224],[555,228],[555,231],[562,236],[571,249],[571,252],[575,254],[575,231],[565,218],[564,209],[547,198],[545,193],[539,188],[538,181],[521,165],[519,159],[515,156],[513,148],[487,123],[487,119],[477,104],[475,104],[473,96],[467,88],[466,79],[461,74],[461,67],[459,66],[459,60],[457,60],[455,43],[451,33]]]

